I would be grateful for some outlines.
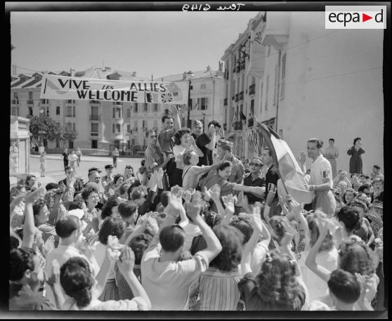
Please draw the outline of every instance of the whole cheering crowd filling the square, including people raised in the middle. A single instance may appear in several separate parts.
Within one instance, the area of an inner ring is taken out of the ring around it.
[[[140,169],[85,182],[65,151],[63,181],[11,188],[10,310],[384,310],[379,166],[335,177],[310,138],[301,204],[268,148],[239,159],[175,106],[162,127]]]

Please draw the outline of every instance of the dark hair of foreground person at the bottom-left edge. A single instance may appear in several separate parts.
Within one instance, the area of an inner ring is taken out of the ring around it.
[[[34,249],[22,247],[10,253],[10,281],[22,280],[27,270],[34,271]]]

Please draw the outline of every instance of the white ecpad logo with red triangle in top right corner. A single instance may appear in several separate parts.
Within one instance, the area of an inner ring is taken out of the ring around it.
[[[386,6],[325,6],[325,29],[385,29]]]

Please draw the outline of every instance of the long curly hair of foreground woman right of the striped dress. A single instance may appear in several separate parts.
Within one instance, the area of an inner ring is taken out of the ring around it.
[[[303,288],[296,279],[297,275],[299,270],[294,260],[276,250],[270,251],[256,276],[257,294],[263,302],[292,306],[292,310],[299,309]]]

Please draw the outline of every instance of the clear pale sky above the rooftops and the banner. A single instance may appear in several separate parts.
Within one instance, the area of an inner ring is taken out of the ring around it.
[[[163,77],[218,69],[256,11],[11,12],[11,63],[30,70],[95,66]],[[29,72],[17,69],[17,73]]]

